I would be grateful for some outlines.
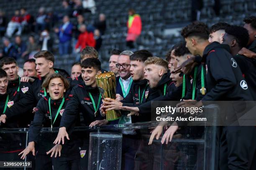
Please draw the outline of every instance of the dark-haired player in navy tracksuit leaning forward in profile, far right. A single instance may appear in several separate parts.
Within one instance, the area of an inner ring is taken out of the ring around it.
[[[252,100],[248,85],[239,67],[232,66],[232,55],[228,45],[218,42],[209,44],[207,26],[195,22],[182,30],[182,36],[193,55],[202,56],[205,63],[207,93],[195,106],[201,107],[204,101],[250,101]],[[180,107],[192,107],[189,104]],[[232,108],[230,108],[232,109]],[[236,114],[236,110],[233,112]],[[223,115],[221,115],[223,116]],[[227,117],[225,121],[233,122],[237,115]],[[224,118],[224,117],[223,117]],[[220,169],[249,169],[255,150],[255,127],[223,126],[220,134],[220,155],[218,166]],[[247,133],[245,133],[247,132]],[[247,140],[245,140],[247,139]]]

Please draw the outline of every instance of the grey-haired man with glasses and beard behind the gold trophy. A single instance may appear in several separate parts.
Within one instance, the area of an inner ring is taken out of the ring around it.
[[[130,55],[133,52],[125,50],[120,53],[118,57],[118,63],[115,65],[118,69],[119,77],[116,77],[116,99],[123,100],[128,95],[131,86],[133,85],[133,79],[130,72]]]

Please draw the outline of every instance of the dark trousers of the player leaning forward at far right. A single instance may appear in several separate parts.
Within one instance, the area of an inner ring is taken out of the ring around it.
[[[250,169],[256,161],[253,160],[256,150],[256,127],[223,126],[220,130],[219,169]]]

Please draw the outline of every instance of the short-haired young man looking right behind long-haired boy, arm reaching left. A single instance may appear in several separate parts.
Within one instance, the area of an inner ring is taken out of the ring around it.
[[[11,118],[15,115],[22,115],[23,113],[27,113],[30,110],[32,110],[34,107],[36,107],[37,102],[47,95],[47,92],[44,88],[41,87],[44,79],[53,74],[54,72],[57,72],[61,75],[63,75],[67,79],[71,79],[68,77],[67,72],[61,69],[55,69],[54,70],[54,55],[47,51],[43,50],[40,52],[37,52],[34,57],[36,58],[36,70],[40,76],[40,78],[36,79],[32,85],[31,88],[28,89],[28,92],[26,92],[25,96],[22,98],[22,100],[16,102],[12,108],[10,108],[6,113],[6,118],[8,121],[8,118]],[[66,95],[68,95],[69,90],[67,91]]]

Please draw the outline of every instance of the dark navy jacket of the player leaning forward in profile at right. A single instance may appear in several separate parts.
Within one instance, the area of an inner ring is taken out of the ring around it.
[[[240,67],[233,67],[233,57],[228,45],[212,42],[203,52],[205,62],[207,94],[203,101],[251,101],[251,93]]]

